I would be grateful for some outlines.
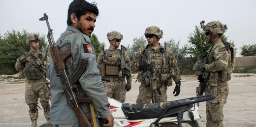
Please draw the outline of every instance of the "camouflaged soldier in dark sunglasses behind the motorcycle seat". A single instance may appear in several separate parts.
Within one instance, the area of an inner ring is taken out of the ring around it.
[[[139,87],[139,95],[136,103],[150,103],[152,99],[151,88],[148,86],[148,79],[142,81],[142,76],[147,70],[146,49],[148,48],[150,63],[154,63],[155,75],[153,75],[153,88],[158,91],[154,93],[155,102],[166,101],[167,86],[172,86],[172,79],[176,83],[173,94],[175,96],[180,94],[181,77],[177,61],[172,55],[169,48],[166,48],[167,63],[165,57],[164,46],[159,43],[162,38],[162,31],[156,27],[151,26],[145,30],[145,37],[148,45],[139,49],[138,55],[133,58],[134,71],[138,72],[138,81],[141,83]],[[161,94],[161,95],[160,95]],[[153,99],[152,99],[153,100]]]

